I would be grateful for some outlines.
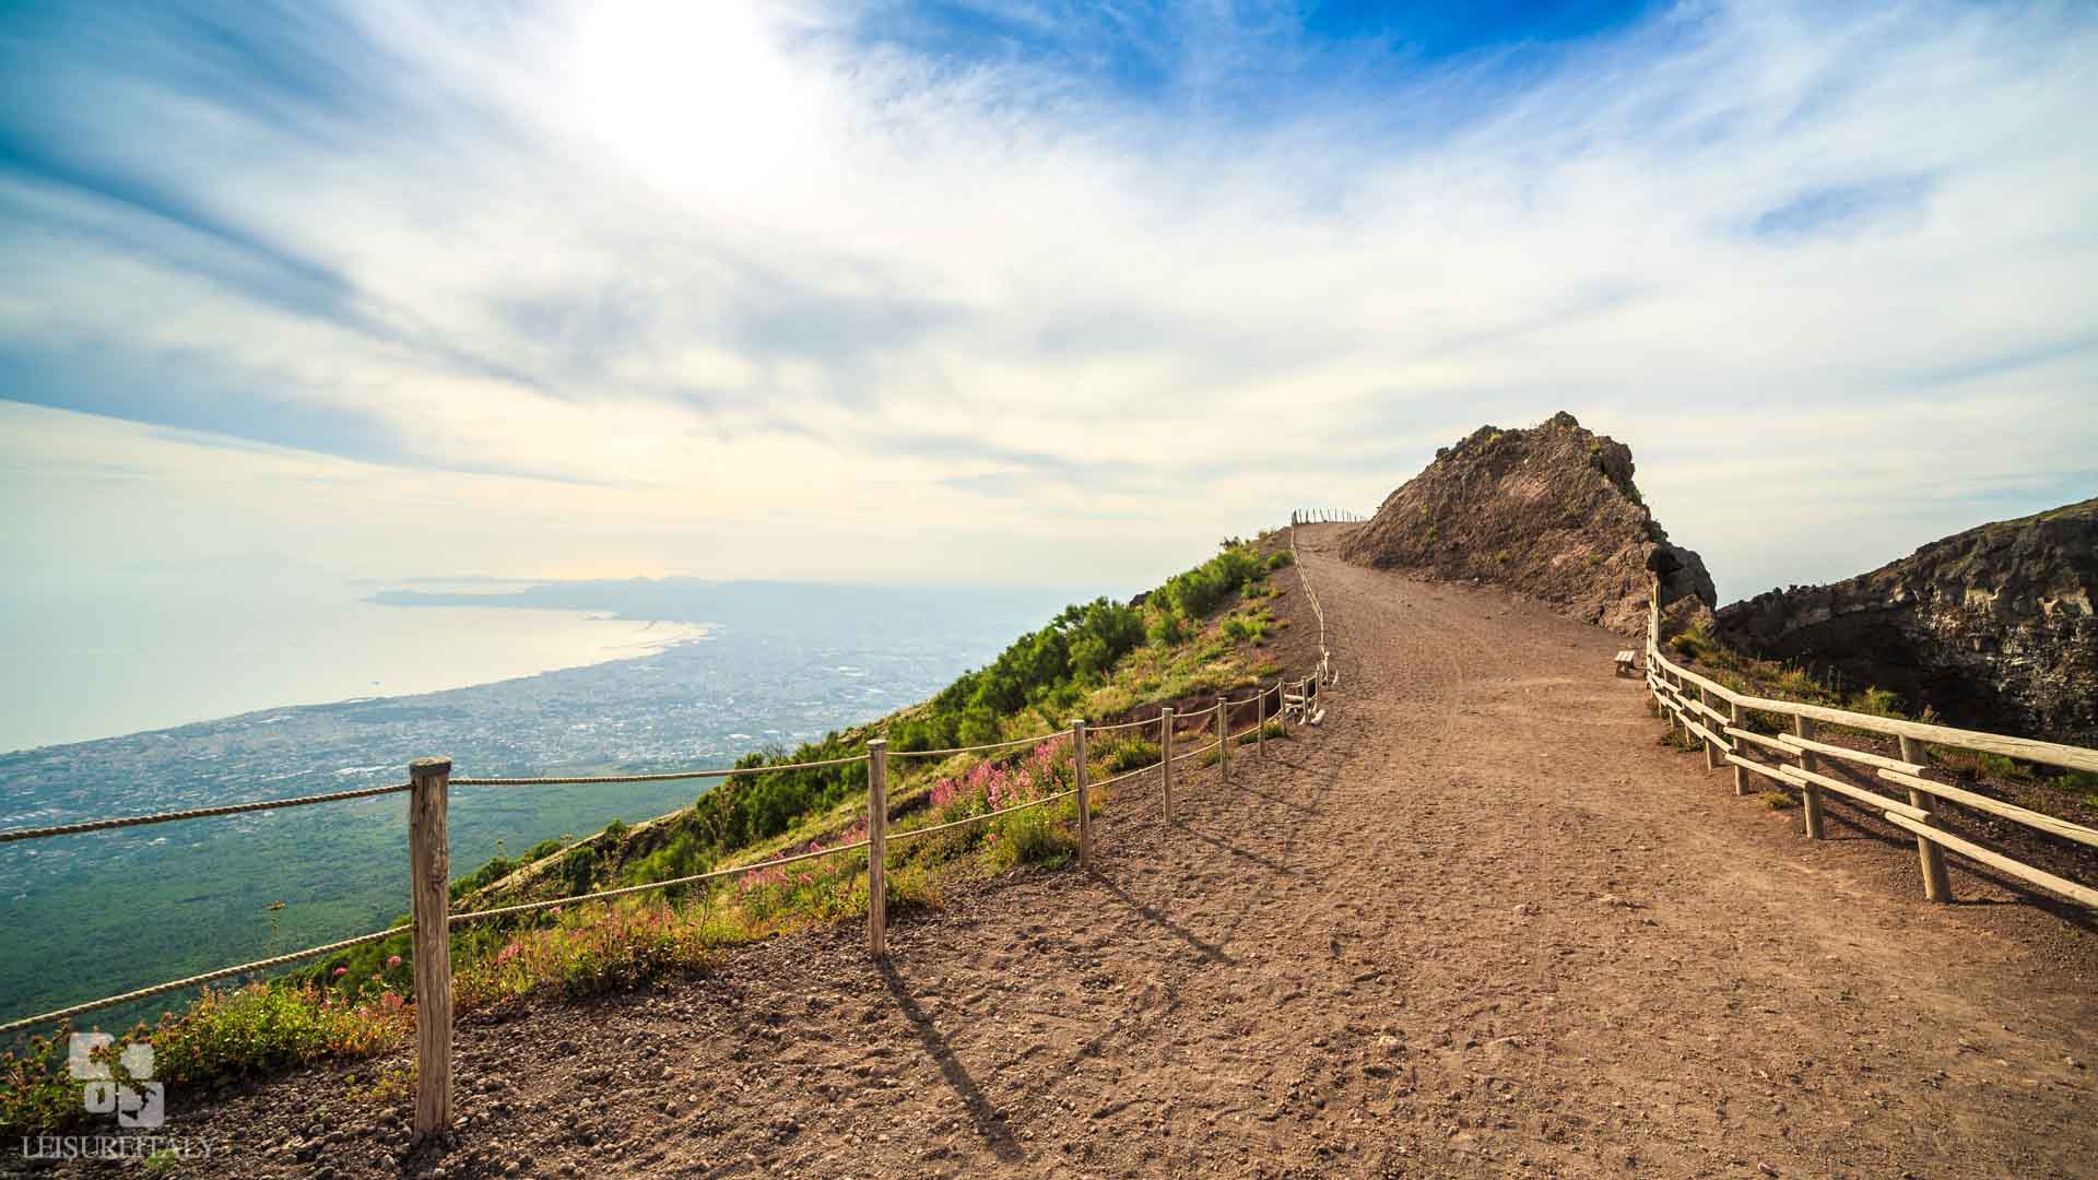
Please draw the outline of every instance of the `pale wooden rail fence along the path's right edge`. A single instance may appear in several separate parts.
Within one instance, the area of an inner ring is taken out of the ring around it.
[[[2006,857],[1995,848],[1985,848],[1972,840],[1945,831],[1941,806],[1970,806],[1997,819],[2020,823],[2033,831],[2075,840],[2077,844],[2092,848],[2098,848],[2098,831],[1951,783],[1934,781],[1930,779],[1928,747],[1949,745],[1955,750],[1978,750],[1983,754],[2001,754],[2069,771],[2098,771],[2098,750],[1737,693],[1662,655],[1657,580],[1649,577],[1649,590],[1653,596],[1649,598],[1647,609],[1647,691],[1653,695],[1653,703],[1668,724],[1680,726],[1680,731],[1704,750],[1706,768],[1733,768],[1735,794],[1750,794],[1750,775],[1760,775],[1785,787],[1798,789],[1802,810],[1806,815],[1806,836],[1813,840],[1823,838],[1823,792],[1863,804],[1886,819],[1886,823],[1892,823],[1915,838],[1915,857],[1924,871],[1924,897],[1928,901],[1951,901],[1951,882],[1945,876],[1945,852],[1957,852],[2006,876],[2098,909],[2098,888],[2058,878],[2046,869]],[[1785,722],[1790,733],[1758,733],[1748,726],[1748,712],[1790,718]],[[1899,743],[1899,758],[1850,750],[1848,745],[1832,741],[1817,741],[1815,724],[1838,724],[1892,737]],[[1760,758],[1752,758],[1752,750],[1781,760],[1764,762]],[[1861,766],[1871,766],[1880,781],[1901,787],[1907,802],[1823,775],[1819,768],[1821,758],[1840,758]]]

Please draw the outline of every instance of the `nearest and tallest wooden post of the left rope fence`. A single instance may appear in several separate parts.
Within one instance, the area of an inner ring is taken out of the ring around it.
[[[407,781],[420,1140],[451,1125],[451,758],[409,762]]]

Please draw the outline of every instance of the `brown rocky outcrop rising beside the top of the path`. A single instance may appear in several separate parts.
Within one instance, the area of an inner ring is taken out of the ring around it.
[[[1496,582],[1561,613],[1643,636],[1647,571],[1662,603],[1710,609],[1704,561],[1653,521],[1632,449],[1555,414],[1529,430],[1481,426],[1393,491],[1343,546],[1362,565]]]

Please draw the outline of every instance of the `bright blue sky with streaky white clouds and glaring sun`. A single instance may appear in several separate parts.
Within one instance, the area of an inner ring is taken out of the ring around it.
[[[1722,598],[2098,493],[2088,4],[0,6],[15,577],[1127,594],[1479,424]]]

